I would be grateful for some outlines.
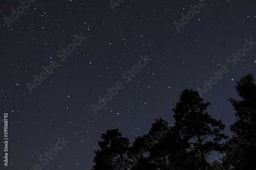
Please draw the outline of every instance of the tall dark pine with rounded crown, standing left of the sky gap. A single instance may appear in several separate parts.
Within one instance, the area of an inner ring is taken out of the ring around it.
[[[227,138],[221,133],[225,128],[221,120],[211,118],[205,112],[209,104],[209,102],[203,103],[197,91],[185,89],[181,92],[176,108],[173,109],[176,128],[183,138],[193,144],[195,151],[200,152],[204,170],[208,166],[205,157],[211,151],[221,152],[223,144],[219,144],[219,141]]]

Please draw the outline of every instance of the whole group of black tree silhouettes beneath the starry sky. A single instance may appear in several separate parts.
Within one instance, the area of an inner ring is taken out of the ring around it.
[[[229,127],[232,136],[222,133],[222,121],[206,112],[210,103],[204,103],[197,91],[185,89],[173,109],[173,126],[155,119],[148,133],[133,143],[119,129],[106,131],[98,141],[92,169],[256,169],[256,85],[252,74],[236,84],[240,100],[227,99],[236,116]],[[224,156],[209,163],[207,157],[213,151]]]

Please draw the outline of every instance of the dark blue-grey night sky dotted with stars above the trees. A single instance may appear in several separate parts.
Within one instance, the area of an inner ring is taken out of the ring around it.
[[[235,116],[227,100],[238,99],[234,86],[240,78],[249,72],[256,76],[256,44],[240,60],[227,58],[243,48],[245,39],[256,41],[256,2],[205,1],[177,29],[182,14],[198,4],[124,0],[113,10],[107,0],[37,0],[12,19],[12,8],[17,11],[21,3],[2,0],[0,119],[8,112],[9,159],[4,166],[0,122],[1,169],[33,169],[35,164],[91,169],[102,133],[118,128],[132,142],[150,130],[155,118],[174,124],[172,110],[181,91],[204,89],[204,79],[222,66],[229,71],[202,97],[211,104],[207,112],[222,119],[225,134],[232,135]],[[44,74],[51,64],[55,68]],[[130,71],[128,80],[127,69],[133,68],[137,73]],[[34,75],[44,80],[34,85]],[[100,107],[99,96],[118,82],[117,94],[95,114],[92,104]],[[62,139],[69,141],[63,147]],[[39,161],[52,148],[61,149],[49,162],[45,156]]]

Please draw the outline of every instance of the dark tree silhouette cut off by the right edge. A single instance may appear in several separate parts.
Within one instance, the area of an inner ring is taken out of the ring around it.
[[[236,90],[242,100],[229,99],[237,117],[230,126],[233,132],[223,159],[225,169],[255,169],[256,155],[256,85],[252,74],[241,78]]]

